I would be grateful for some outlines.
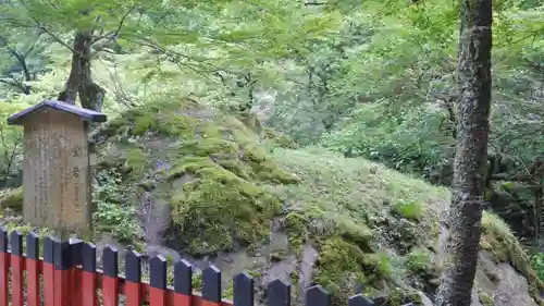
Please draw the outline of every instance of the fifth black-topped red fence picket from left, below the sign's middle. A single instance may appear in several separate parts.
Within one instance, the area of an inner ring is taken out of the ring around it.
[[[67,241],[54,241],[54,306],[70,305],[72,292],[72,245]],[[75,305],[74,305],[75,306]]]

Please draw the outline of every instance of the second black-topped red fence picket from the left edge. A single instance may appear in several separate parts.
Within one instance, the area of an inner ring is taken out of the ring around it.
[[[11,243],[11,290],[12,305],[24,305],[24,282],[23,282],[23,234],[13,231],[10,234]]]

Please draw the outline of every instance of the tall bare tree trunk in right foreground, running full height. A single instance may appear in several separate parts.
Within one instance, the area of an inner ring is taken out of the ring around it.
[[[492,0],[461,0],[457,149],[437,306],[470,306],[481,235],[491,106]]]

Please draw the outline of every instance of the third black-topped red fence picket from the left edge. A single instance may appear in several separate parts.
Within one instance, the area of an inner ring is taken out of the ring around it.
[[[35,233],[26,235],[26,284],[28,306],[40,306],[39,298],[39,237]]]

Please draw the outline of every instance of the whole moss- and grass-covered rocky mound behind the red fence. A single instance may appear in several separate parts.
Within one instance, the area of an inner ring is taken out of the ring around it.
[[[168,258],[180,252],[200,268],[212,261],[227,294],[226,281],[246,270],[260,286],[290,280],[294,296],[320,283],[338,305],[361,285],[392,306],[418,292],[432,297],[446,188],[360,158],[279,148],[190,99],[123,112],[94,137],[98,241]],[[0,205],[20,200],[15,191]],[[485,213],[483,229],[479,301],[543,305],[544,286],[508,227]]]

